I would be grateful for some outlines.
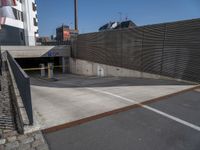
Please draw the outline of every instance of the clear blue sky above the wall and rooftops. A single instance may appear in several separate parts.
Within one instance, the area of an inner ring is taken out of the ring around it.
[[[55,34],[57,26],[74,26],[74,0],[37,0],[39,33]],[[109,22],[122,19],[138,26],[200,18],[200,0],[78,0],[80,33],[95,32]]]

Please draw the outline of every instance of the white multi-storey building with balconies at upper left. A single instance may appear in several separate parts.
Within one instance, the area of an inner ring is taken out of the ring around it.
[[[0,1],[0,45],[35,46],[39,36],[35,0]]]

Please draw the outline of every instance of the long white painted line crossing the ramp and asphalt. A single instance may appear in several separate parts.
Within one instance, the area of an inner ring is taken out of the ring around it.
[[[194,130],[200,131],[200,127],[197,126],[197,125],[194,125],[194,124],[189,123],[189,122],[187,122],[187,121],[184,121],[184,120],[182,120],[182,119],[180,119],[180,118],[177,118],[177,117],[174,117],[174,116],[172,116],[172,115],[169,115],[169,114],[167,114],[167,113],[165,113],[165,112],[162,112],[162,111],[160,111],[160,110],[158,110],[158,109],[155,109],[155,108],[149,107],[149,106],[147,106],[147,105],[143,105],[143,104],[141,104],[141,103],[138,103],[138,102],[135,101],[135,100],[132,100],[132,99],[129,99],[129,98],[125,98],[125,97],[122,97],[122,96],[119,96],[119,95],[116,95],[116,94],[113,94],[113,93],[110,93],[110,92],[107,92],[107,91],[97,90],[97,89],[94,89],[94,88],[87,88],[87,89],[88,89],[88,90],[91,90],[91,91],[94,91],[94,92],[99,92],[99,93],[102,93],[102,94],[106,94],[106,95],[110,95],[110,96],[113,96],[113,97],[116,97],[116,98],[120,98],[120,99],[122,99],[122,100],[124,100],[124,101],[131,102],[131,103],[133,103],[133,104],[137,104],[137,105],[139,105],[139,106],[142,107],[142,108],[148,109],[148,110],[150,110],[150,111],[152,111],[152,112],[155,112],[155,113],[157,113],[157,114],[159,114],[159,115],[162,115],[162,116],[164,116],[164,117],[166,117],[166,118],[169,118],[169,119],[171,119],[171,120],[174,120],[174,121],[176,121],[176,122],[178,122],[178,123],[180,123],[180,124],[183,124],[183,125],[185,125],[185,126],[188,126],[188,127],[192,128],[192,129],[194,129]]]

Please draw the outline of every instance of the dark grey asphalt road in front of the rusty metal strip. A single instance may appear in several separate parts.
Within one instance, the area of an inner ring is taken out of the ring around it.
[[[190,91],[44,135],[51,150],[199,150],[199,118]]]

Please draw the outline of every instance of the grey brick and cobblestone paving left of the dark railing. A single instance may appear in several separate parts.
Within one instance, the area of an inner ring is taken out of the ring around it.
[[[11,99],[9,78],[5,64],[0,76],[0,150],[48,150],[48,145],[41,131],[19,134],[16,131]]]

